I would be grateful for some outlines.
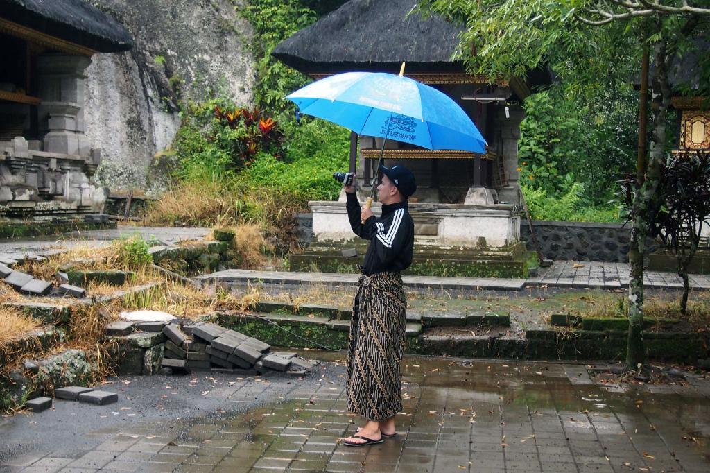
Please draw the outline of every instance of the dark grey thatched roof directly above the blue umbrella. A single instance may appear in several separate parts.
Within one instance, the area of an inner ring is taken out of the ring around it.
[[[280,43],[273,55],[302,72],[462,70],[463,25],[413,13],[417,0],[351,0]]]

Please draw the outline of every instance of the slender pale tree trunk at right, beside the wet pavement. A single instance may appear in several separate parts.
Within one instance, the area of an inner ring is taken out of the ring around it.
[[[631,217],[631,246],[629,266],[631,280],[628,285],[628,344],[626,347],[626,369],[638,369],[643,364],[643,254],[648,234],[648,219],[652,206],[657,205],[657,190],[660,182],[661,164],[665,148],[666,112],[670,106],[671,89],[668,83],[666,44],[663,40],[653,45],[654,72],[652,80],[651,112],[653,129],[649,163],[643,185],[634,196]]]

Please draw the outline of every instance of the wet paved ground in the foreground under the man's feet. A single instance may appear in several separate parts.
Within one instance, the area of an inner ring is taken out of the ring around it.
[[[624,387],[583,364],[405,357],[399,434],[352,448],[344,355],[305,353],[330,361],[304,379],[114,379],[117,404],[4,418],[0,470],[710,471],[710,379]]]

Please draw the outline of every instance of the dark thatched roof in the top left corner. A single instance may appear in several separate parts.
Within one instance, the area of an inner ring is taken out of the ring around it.
[[[0,17],[100,53],[133,47],[121,23],[82,0],[4,0]]]

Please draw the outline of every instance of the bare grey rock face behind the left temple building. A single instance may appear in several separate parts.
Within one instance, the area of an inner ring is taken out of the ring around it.
[[[128,53],[99,54],[87,72],[86,133],[103,161],[97,177],[112,189],[145,187],[155,153],[178,131],[178,100],[209,94],[251,102],[251,26],[215,0],[91,0],[126,26]],[[153,176],[151,176],[152,180]]]

